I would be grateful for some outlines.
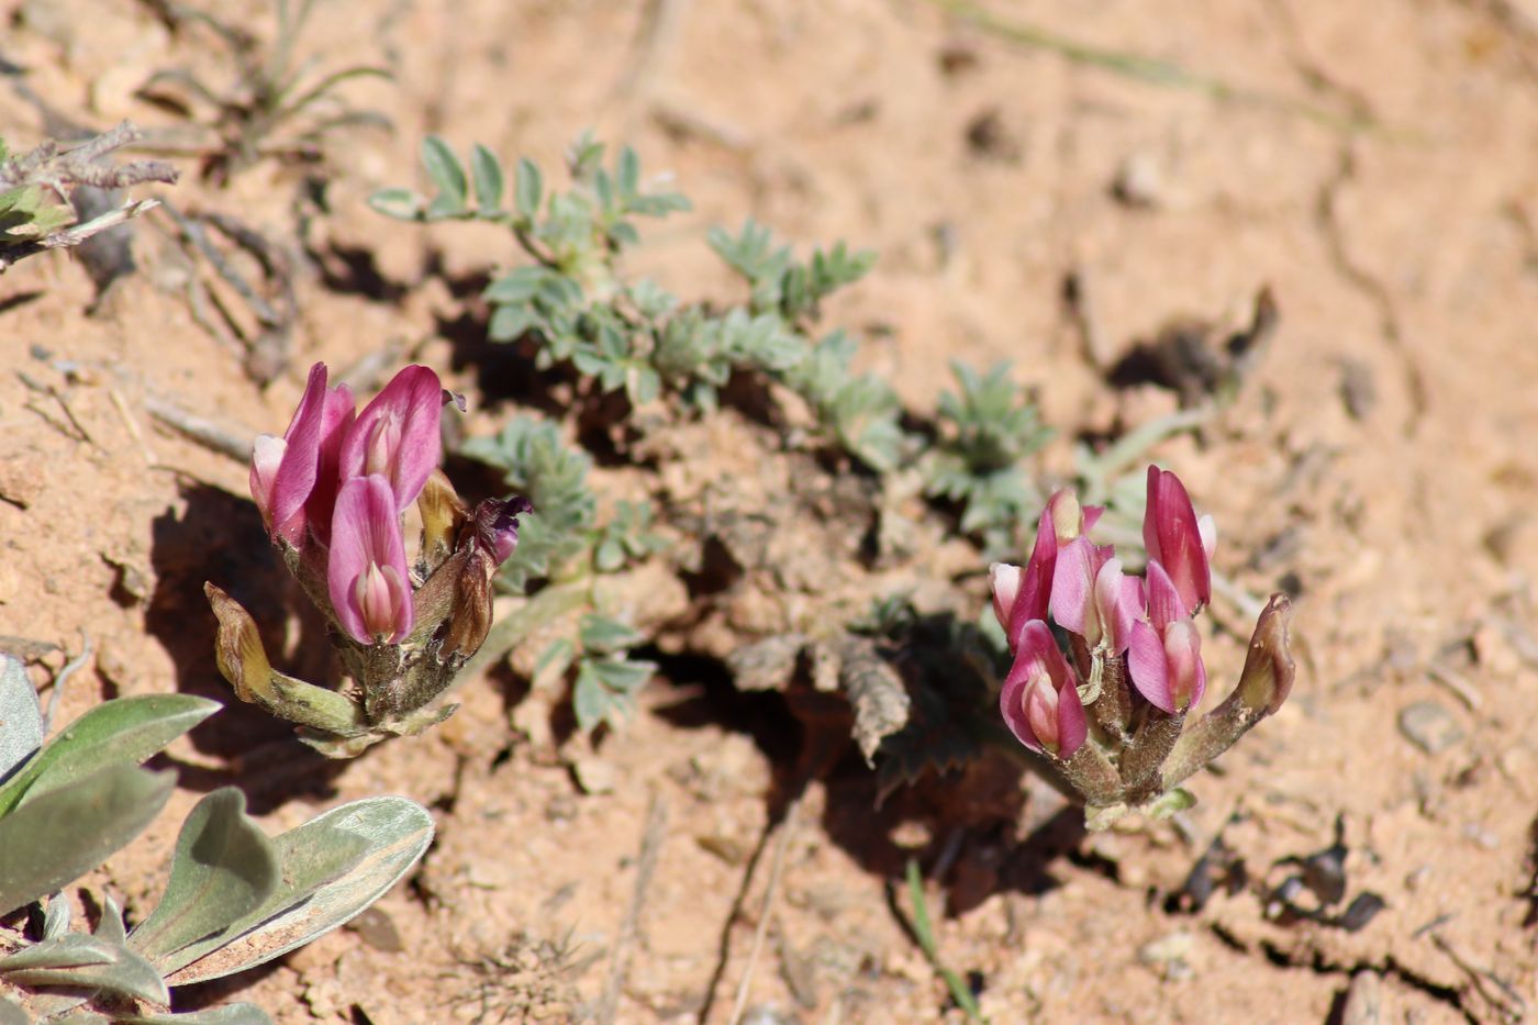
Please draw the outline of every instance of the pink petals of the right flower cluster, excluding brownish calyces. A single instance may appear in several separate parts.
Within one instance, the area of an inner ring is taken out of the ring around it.
[[[1058,491],[1041,514],[1026,566],[990,568],[994,613],[1014,654],[1000,711],[1021,743],[1061,760],[1083,746],[1084,703],[1098,699],[1109,677],[1129,679],[1137,694],[1170,716],[1197,705],[1207,686],[1192,619],[1212,599],[1212,517],[1197,517],[1175,474],[1149,466],[1144,582],[1123,573],[1110,545],[1087,537],[1101,512]],[[1067,631],[1078,671],[1058,648],[1049,616]]]

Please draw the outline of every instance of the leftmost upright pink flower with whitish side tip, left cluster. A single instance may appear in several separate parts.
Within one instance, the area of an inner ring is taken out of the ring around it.
[[[251,497],[274,537],[301,546],[308,523],[325,526],[315,519],[325,502],[315,502],[315,496],[329,496],[328,502],[335,496],[325,463],[334,457],[340,431],[351,419],[352,392],[346,385],[328,391],[326,365],[315,363],[283,437],[257,436],[251,449]],[[321,520],[329,519],[326,508]]]

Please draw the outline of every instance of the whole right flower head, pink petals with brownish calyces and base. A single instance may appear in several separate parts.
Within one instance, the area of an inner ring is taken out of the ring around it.
[[[1047,502],[1030,560],[994,563],[994,611],[1014,663],[1004,723],[1084,799],[1090,826],[1192,803],[1180,783],[1275,713],[1292,689],[1286,596],[1260,616],[1238,685],[1187,728],[1207,689],[1195,616],[1212,600],[1217,528],[1175,474],[1149,466],[1146,579],[1089,533],[1103,509]]]

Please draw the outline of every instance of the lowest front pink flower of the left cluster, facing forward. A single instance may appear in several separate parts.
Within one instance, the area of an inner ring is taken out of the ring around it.
[[[358,643],[400,643],[411,633],[406,542],[383,474],[354,477],[337,492],[326,583],[337,620]]]

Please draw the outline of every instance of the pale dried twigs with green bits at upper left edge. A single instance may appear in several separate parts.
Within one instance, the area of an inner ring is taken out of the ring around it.
[[[80,222],[71,197],[82,188],[123,189],[145,182],[171,185],[177,171],[158,160],[106,162],[108,154],[141,139],[123,122],[109,132],[72,146],[54,140],[11,155],[0,142],[0,272],[46,249],[78,246],[145,211],[155,200],[129,200]]]

